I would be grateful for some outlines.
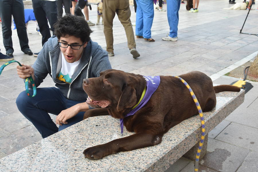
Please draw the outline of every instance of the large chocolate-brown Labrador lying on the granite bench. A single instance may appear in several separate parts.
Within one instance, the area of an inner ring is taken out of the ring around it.
[[[217,92],[236,91],[231,85],[213,86],[206,74],[198,71],[180,75],[192,88],[204,112],[216,106]],[[83,80],[86,101],[95,109],[88,110],[84,119],[91,116],[111,115],[123,119],[140,100],[146,79],[142,75],[120,70],[106,70],[97,78]],[[162,136],[171,127],[198,114],[187,87],[172,76],[160,76],[160,84],[150,100],[134,115],[124,118],[124,126],[135,134],[103,145],[85,149],[85,158],[100,159],[120,151],[131,151],[161,143]]]

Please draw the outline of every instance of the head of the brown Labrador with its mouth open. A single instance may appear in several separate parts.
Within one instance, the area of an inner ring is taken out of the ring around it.
[[[122,115],[126,108],[132,108],[137,103],[137,95],[145,84],[140,75],[109,69],[97,78],[84,79],[83,90],[88,94],[86,102],[90,106],[112,109]],[[121,118],[120,115],[112,116]]]

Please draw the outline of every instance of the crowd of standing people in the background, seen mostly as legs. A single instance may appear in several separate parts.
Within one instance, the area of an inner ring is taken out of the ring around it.
[[[80,0],[79,0],[80,1]],[[84,0],[81,0],[84,1]],[[119,1],[119,2],[118,2]],[[102,1],[101,1],[102,2]],[[63,16],[63,8],[66,14],[74,15],[75,5],[77,0],[32,0],[33,12],[38,22],[38,27],[42,35],[42,46],[51,37],[50,30],[55,33],[54,23]],[[154,17],[153,1],[135,0],[136,9],[136,38],[143,38],[145,41],[154,42],[155,39],[151,37],[151,27]],[[159,4],[159,11],[166,11],[162,8],[163,1],[157,0]],[[176,3],[172,0],[167,0],[167,16],[170,27],[170,32],[166,37],[162,37],[166,41],[177,40],[177,25],[178,25],[178,10],[180,3],[183,0],[178,0]],[[14,9],[14,10],[13,10]],[[89,10],[85,6],[85,19],[89,26],[95,25],[89,21]],[[128,48],[133,58],[140,56],[136,50],[136,43],[134,39],[134,31],[130,21],[131,11],[128,0],[103,0],[103,20],[104,20],[104,34],[106,39],[106,51],[108,56],[114,56],[113,49],[113,19],[115,14],[118,15],[119,20],[124,26],[126,37],[128,41]],[[39,52],[30,50],[28,46],[28,35],[26,32],[26,25],[24,21],[24,5],[22,0],[1,0],[0,1],[0,17],[3,21],[3,45],[6,50],[6,55],[0,52],[0,61],[13,60],[13,45],[11,39],[11,16],[13,15],[14,22],[17,27],[17,35],[21,50],[28,55],[38,56]],[[50,27],[50,28],[49,28]]]

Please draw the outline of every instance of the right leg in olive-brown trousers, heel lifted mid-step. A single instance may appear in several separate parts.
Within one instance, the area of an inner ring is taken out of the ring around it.
[[[131,11],[129,7],[129,1],[120,1],[118,10],[116,10],[118,19],[124,26],[124,30],[126,32],[127,44],[130,53],[133,55],[133,58],[137,58],[140,54],[136,50],[136,43],[134,39],[134,30],[132,28],[132,23],[130,20]]]

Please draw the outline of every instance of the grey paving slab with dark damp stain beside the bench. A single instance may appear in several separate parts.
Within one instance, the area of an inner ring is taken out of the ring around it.
[[[221,172],[235,172],[249,152],[248,149],[208,138],[207,153],[200,164]]]

